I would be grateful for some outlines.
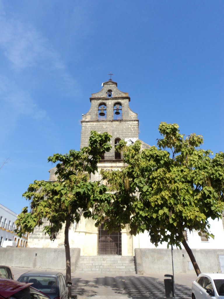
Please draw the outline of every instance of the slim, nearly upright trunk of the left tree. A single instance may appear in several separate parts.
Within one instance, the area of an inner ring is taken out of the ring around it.
[[[69,247],[69,239],[68,239],[68,230],[70,228],[71,221],[68,216],[65,222],[65,258],[66,258],[66,284],[71,282],[71,259],[70,259],[70,247]],[[72,290],[71,287],[68,287],[68,296],[72,298]]]

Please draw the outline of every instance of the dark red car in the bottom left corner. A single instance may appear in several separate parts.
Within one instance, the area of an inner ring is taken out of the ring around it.
[[[32,283],[0,278],[0,299],[49,299],[44,293],[32,288]]]

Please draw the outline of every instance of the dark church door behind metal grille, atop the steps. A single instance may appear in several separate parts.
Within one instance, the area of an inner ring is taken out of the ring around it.
[[[104,223],[99,228],[99,255],[121,255],[121,231],[108,233],[104,230]]]

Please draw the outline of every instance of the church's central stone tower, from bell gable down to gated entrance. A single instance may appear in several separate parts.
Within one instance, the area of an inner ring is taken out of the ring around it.
[[[128,141],[129,144],[138,139],[139,121],[137,114],[129,108],[128,93],[119,91],[117,83],[111,79],[103,83],[101,91],[91,95],[90,102],[90,110],[82,116],[81,121],[81,148],[88,146],[91,131],[108,132],[112,136],[111,151],[101,157],[98,172],[91,175],[90,180],[97,181],[101,179],[102,168],[119,169],[123,166],[122,154],[115,152],[115,146],[121,139]],[[84,231],[88,232],[88,235],[85,234],[85,242],[80,245],[83,255],[133,255],[133,238],[128,227],[119,232],[109,233],[104,230],[104,223],[96,228],[93,220],[83,220],[79,230],[79,236]]]

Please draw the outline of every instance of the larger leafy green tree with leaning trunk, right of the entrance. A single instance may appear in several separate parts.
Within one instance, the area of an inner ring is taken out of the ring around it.
[[[131,234],[148,231],[151,242],[184,246],[197,275],[200,269],[185,241],[183,231],[197,230],[208,237],[209,218],[221,218],[223,211],[223,152],[200,148],[203,138],[179,133],[177,124],[161,123],[158,148],[141,150],[141,142],[127,147],[120,141],[124,167],[104,171],[111,199],[98,202],[93,210],[97,224],[109,217],[108,229],[129,224]]]

